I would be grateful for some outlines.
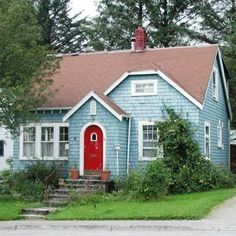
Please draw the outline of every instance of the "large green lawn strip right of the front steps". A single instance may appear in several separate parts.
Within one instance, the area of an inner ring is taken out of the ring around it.
[[[158,201],[107,199],[73,203],[50,214],[49,220],[170,220],[201,219],[212,208],[236,195],[236,188],[170,195]]]

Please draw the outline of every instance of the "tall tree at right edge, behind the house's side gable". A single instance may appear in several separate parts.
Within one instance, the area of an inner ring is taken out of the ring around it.
[[[208,43],[220,43],[230,70],[232,126],[236,128],[236,1],[203,0],[196,5],[200,19],[199,31],[193,35]]]

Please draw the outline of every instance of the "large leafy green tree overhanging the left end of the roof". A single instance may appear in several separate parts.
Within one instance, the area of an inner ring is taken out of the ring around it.
[[[32,2],[0,0],[0,125],[12,134],[35,119],[32,109],[51,93],[45,79],[56,68],[52,53],[38,44],[40,30]]]

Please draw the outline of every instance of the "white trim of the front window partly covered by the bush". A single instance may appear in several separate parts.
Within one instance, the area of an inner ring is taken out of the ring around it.
[[[143,157],[143,126],[144,125],[155,125],[155,122],[153,122],[153,121],[140,121],[138,123],[138,158],[139,158],[139,161],[153,161],[153,160],[162,158],[163,157],[163,150],[162,150],[162,156],[160,156],[160,157],[153,157],[153,158]],[[162,147],[160,147],[160,148],[162,148]]]

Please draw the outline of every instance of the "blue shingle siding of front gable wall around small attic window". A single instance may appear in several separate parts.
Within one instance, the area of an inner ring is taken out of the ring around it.
[[[157,80],[157,95],[131,96],[131,81]],[[184,118],[198,126],[199,109],[175,88],[158,75],[129,76],[108,95],[117,105],[132,116],[130,167],[136,168],[144,161],[138,161],[139,121],[158,121],[165,118],[165,106],[174,108]]]

